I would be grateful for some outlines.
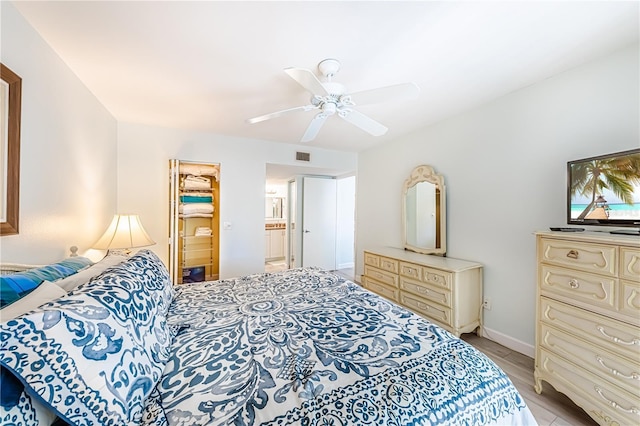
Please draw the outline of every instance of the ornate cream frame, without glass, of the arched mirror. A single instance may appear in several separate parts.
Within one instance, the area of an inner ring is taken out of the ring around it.
[[[440,229],[436,232],[440,234],[440,247],[426,248],[417,247],[407,243],[407,191],[420,182],[429,182],[436,186],[436,191],[440,191],[440,199],[436,202],[440,209]],[[433,167],[426,164],[416,166],[402,186],[402,243],[405,250],[422,254],[437,254],[445,256],[447,253],[447,207],[446,191],[444,186],[444,176],[435,172]]]

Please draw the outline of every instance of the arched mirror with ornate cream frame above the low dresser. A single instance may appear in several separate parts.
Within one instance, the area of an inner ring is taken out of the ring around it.
[[[433,167],[417,166],[402,189],[405,250],[444,256],[447,252],[444,177]]]

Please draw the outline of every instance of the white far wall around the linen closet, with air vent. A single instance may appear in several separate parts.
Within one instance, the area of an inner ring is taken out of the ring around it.
[[[249,140],[130,123],[118,125],[118,210],[140,215],[168,264],[169,159],[220,163],[220,278],[264,271],[266,164],[355,170],[357,155],[313,149],[295,161],[299,145]],[[105,225],[106,226],[106,225]]]

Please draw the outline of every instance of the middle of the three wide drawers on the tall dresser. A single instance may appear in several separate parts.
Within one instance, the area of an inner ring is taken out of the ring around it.
[[[540,336],[543,348],[571,360],[628,392],[637,393],[640,390],[640,360],[633,362],[545,323],[541,325]]]

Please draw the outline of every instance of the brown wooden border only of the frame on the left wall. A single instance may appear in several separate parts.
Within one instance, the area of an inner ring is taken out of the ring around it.
[[[16,73],[0,63],[0,76],[8,87],[8,99],[2,99],[7,105],[3,109],[4,124],[7,126],[6,139],[3,136],[1,148],[7,155],[6,168],[2,166],[1,173],[7,185],[7,192],[2,200],[6,209],[6,218],[0,221],[0,236],[18,233],[20,217],[20,112],[22,110],[22,79]]]

